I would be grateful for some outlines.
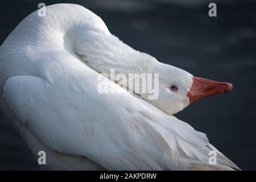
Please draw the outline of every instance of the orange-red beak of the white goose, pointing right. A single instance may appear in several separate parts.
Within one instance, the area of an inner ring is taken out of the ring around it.
[[[193,77],[192,79],[193,84],[187,94],[190,104],[200,98],[228,93],[233,89],[233,85],[228,82],[218,82],[199,77]]]

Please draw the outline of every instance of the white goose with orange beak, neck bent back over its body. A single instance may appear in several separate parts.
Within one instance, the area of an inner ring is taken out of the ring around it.
[[[0,48],[1,110],[36,156],[46,151],[42,168],[239,169],[204,133],[172,116],[201,97],[229,92],[231,84],[135,51],[82,6],[46,10],[46,17],[35,11],[25,18]],[[159,98],[98,93],[97,77],[110,68],[159,73]],[[208,162],[212,150],[217,164]]]

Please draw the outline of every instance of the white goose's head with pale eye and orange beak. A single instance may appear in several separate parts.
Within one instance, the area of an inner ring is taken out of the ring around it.
[[[228,82],[195,77],[168,64],[158,64],[154,72],[159,73],[159,97],[148,102],[167,114],[175,114],[200,98],[228,93],[233,89]]]

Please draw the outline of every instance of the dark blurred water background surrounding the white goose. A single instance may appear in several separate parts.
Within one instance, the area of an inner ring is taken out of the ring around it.
[[[200,100],[176,117],[208,134],[242,169],[256,169],[256,1],[1,1],[0,44],[40,2],[82,5],[129,46],[195,76],[232,82],[232,93]],[[217,17],[208,16],[209,2]],[[39,169],[2,113],[0,169]]]

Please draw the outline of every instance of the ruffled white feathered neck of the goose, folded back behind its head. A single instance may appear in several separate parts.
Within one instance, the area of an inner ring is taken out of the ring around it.
[[[82,34],[75,39],[75,52],[86,65],[145,100],[155,99],[155,94],[148,96],[158,89],[158,74],[151,74],[160,64],[155,57],[135,51],[110,33]]]

